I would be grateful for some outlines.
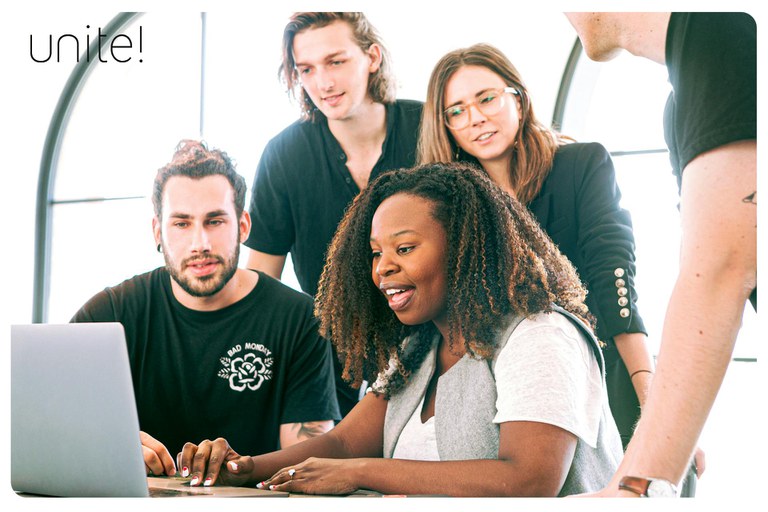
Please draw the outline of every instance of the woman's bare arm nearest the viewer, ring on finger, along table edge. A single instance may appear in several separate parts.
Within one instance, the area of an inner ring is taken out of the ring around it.
[[[384,494],[556,496],[570,469],[576,437],[537,422],[507,422],[500,430],[498,459],[311,458],[282,468],[265,485],[307,494],[372,489]]]

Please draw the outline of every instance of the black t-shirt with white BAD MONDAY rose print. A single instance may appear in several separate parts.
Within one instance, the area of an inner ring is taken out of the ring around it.
[[[309,296],[264,273],[218,311],[173,295],[164,267],[96,294],[73,322],[123,324],[141,429],[172,455],[226,438],[242,454],[279,448],[283,423],[338,419],[331,350]]]

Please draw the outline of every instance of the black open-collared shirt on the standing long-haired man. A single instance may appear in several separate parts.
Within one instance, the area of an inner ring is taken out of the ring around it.
[[[370,181],[416,160],[422,104],[398,100],[387,108],[387,135]],[[297,121],[272,139],[251,190],[253,225],[245,245],[267,254],[291,253],[301,289],[310,295],[325,264],[328,244],[347,206],[360,192],[347,156],[320,113]]]

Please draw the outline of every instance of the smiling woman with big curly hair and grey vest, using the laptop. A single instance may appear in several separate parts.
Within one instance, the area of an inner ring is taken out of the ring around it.
[[[600,489],[622,450],[584,297],[570,262],[481,171],[382,174],[339,225],[316,296],[346,376],[379,372],[372,391],[299,445],[241,457],[224,439],[188,443],[181,464],[199,481],[311,494]]]

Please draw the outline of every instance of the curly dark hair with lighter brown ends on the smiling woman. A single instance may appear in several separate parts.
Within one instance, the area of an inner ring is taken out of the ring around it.
[[[491,358],[510,315],[528,317],[557,304],[593,325],[576,270],[519,201],[465,163],[431,163],[386,172],[364,189],[328,248],[315,297],[320,331],[344,358],[343,377],[359,385],[390,364],[386,396],[400,389],[431,348],[432,322],[402,324],[371,278],[371,221],[395,194],[433,204],[445,229],[447,318],[453,347]],[[410,336],[405,350],[403,340]]]

